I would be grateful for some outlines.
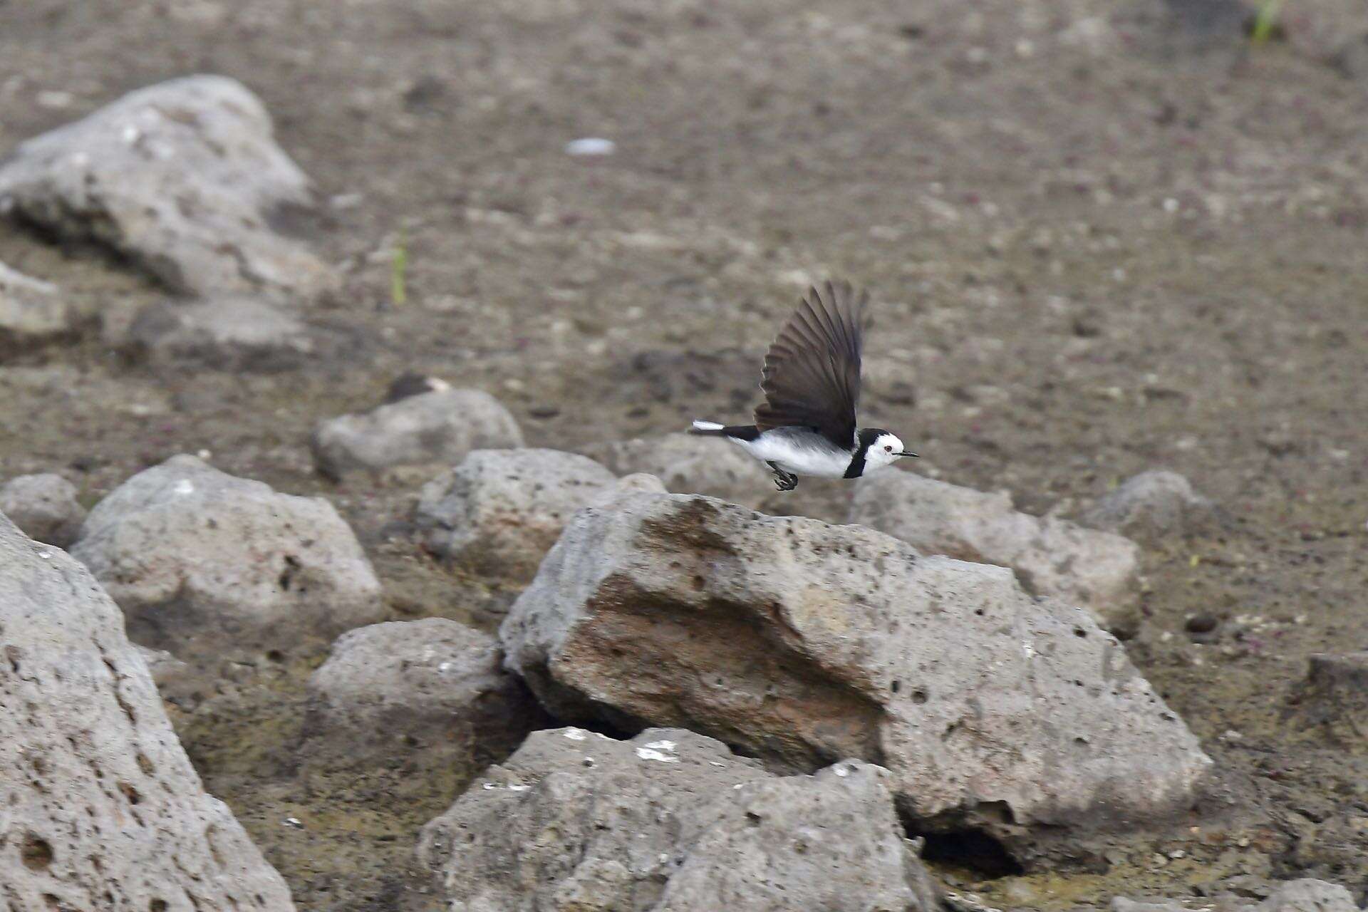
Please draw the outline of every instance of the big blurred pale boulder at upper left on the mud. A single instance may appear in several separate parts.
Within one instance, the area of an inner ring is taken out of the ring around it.
[[[107,245],[185,293],[332,287],[332,269],[274,227],[311,204],[261,101],[224,77],[140,89],[0,163],[0,213]]]

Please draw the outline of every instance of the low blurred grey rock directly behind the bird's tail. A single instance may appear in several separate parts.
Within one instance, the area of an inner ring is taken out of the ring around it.
[[[755,507],[774,489],[769,473],[759,462],[735,444],[717,438],[666,433],[659,438],[614,440],[592,447],[588,453],[618,474],[654,474],[674,494],[705,494]]]

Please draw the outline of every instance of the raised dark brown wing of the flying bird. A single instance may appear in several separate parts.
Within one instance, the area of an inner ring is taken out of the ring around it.
[[[761,431],[804,427],[843,450],[855,446],[867,301],[844,282],[808,289],[765,356]]]

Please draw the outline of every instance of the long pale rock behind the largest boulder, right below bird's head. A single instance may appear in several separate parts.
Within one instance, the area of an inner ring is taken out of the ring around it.
[[[1011,567],[1029,592],[1082,606],[1111,630],[1129,630],[1137,619],[1134,541],[1019,513],[1005,492],[984,494],[891,469],[860,479],[850,521],[923,554]]]

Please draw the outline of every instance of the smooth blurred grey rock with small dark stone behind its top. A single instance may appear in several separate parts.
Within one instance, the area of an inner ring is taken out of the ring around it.
[[[438,390],[364,414],[323,421],[309,440],[319,472],[451,465],[472,450],[520,447],[523,432],[498,399],[480,390]]]

